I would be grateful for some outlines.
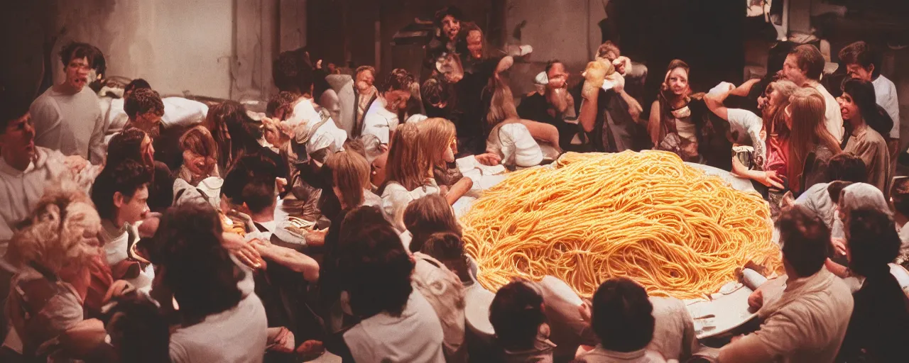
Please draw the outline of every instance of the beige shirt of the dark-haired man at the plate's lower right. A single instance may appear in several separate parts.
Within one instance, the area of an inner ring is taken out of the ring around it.
[[[832,362],[843,343],[853,298],[826,268],[786,281],[783,294],[758,311],[764,320],[754,332],[767,353],[780,362]]]

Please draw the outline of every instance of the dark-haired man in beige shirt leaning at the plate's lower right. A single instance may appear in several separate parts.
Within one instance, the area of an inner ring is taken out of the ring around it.
[[[852,316],[853,297],[843,280],[824,268],[830,231],[802,206],[779,220],[786,288],[764,303],[761,290],[748,299],[759,308],[761,329],[720,349],[721,362],[834,361]]]

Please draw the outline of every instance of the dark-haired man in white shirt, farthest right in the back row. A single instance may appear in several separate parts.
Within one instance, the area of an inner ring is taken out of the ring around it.
[[[895,161],[900,144],[900,103],[896,96],[896,86],[887,77],[884,77],[884,74],[881,74],[879,56],[869,44],[864,42],[846,45],[839,54],[840,61],[846,64],[846,73],[850,77],[868,81],[874,85],[874,97],[877,104],[883,107],[887,115],[894,120],[894,128],[890,130],[890,134],[882,136],[887,139],[891,160]]]

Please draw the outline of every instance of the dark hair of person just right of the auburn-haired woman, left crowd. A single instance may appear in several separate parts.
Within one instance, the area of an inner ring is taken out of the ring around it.
[[[246,203],[258,213],[275,204],[275,162],[261,153],[244,155],[225,174],[221,192],[234,204]]]

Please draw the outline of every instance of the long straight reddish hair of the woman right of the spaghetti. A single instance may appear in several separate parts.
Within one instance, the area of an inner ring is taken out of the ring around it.
[[[789,98],[792,111],[792,131],[789,138],[789,187],[802,191],[801,178],[808,153],[824,145],[834,153],[841,152],[836,141],[824,125],[824,96],[814,88],[803,87]]]

